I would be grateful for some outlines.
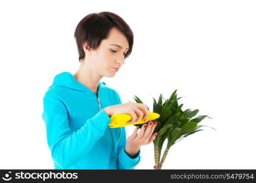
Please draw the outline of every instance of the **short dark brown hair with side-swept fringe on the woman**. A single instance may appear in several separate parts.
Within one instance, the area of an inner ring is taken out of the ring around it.
[[[124,59],[130,55],[134,45],[134,34],[128,24],[120,16],[112,12],[90,13],[78,23],[75,29],[79,62],[81,62],[81,59],[85,59],[83,43],[86,41],[91,49],[98,48],[100,42],[107,38],[112,27],[119,29],[128,40],[129,50]]]

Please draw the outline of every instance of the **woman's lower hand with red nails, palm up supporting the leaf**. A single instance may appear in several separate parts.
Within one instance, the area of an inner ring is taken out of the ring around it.
[[[137,126],[134,130],[134,133],[130,135],[126,140],[126,152],[130,154],[130,156],[134,156],[138,153],[140,150],[141,145],[147,145],[151,143],[155,138],[157,133],[154,132],[154,129],[156,127],[157,121],[154,121],[154,123],[149,122],[147,124],[143,124],[143,126],[140,129],[140,132],[138,132],[139,126]],[[138,134],[137,134],[138,132]]]

